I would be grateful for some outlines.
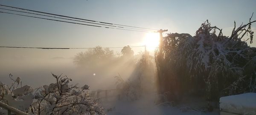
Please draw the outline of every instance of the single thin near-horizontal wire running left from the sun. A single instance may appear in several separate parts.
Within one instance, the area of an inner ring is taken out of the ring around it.
[[[145,46],[130,46],[132,47],[145,47]],[[49,47],[16,47],[16,46],[0,46],[0,48],[26,48],[26,49],[101,49],[101,48],[124,48],[124,47],[95,47],[95,48],[49,48]]]

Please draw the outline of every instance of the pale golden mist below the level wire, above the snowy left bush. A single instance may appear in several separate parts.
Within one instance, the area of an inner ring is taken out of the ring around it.
[[[136,48],[135,48],[136,49]],[[11,84],[9,73],[14,78],[20,77],[22,83],[34,88],[52,83],[55,75],[67,75],[73,81],[71,84],[79,83],[79,86],[87,84],[91,90],[115,89],[118,73],[122,78],[128,78],[134,70],[134,65],[122,61],[119,63],[108,63],[104,60],[101,64],[87,65],[82,67],[76,65],[74,57],[85,50],[33,50],[33,49],[0,49],[0,79],[3,83]],[[7,50],[7,51],[6,51]],[[5,52],[6,51],[6,52]],[[121,49],[115,50],[120,52]],[[93,75],[95,74],[95,75]]]

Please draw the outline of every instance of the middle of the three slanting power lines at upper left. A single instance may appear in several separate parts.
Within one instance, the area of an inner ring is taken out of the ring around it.
[[[0,9],[3,9],[3,8],[0,8]],[[111,26],[111,27],[117,27],[117,28],[125,28],[125,27],[121,27],[121,26],[112,26],[112,25],[106,25],[106,24],[100,24],[100,23],[86,22],[86,21],[81,21],[81,20],[73,20],[73,19],[68,19],[68,18],[55,17],[55,16],[49,16],[49,15],[44,15],[44,14],[31,13],[31,12],[26,12],[26,11],[17,11],[17,10],[11,10],[11,9],[3,9],[3,10],[16,11],[16,12],[22,12],[22,13],[27,13],[27,14],[35,14],[35,15],[41,15],[41,16],[46,16],[46,17],[54,17],[54,18],[59,18],[59,19],[72,20],[72,21],[78,21],[78,22],[84,22],[84,23],[91,23],[91,24],[97,24],[97,25],[103,25],[103,26]],[[127,29],[133,29],[133,28],[127,28]],[[145,29],[136,29],[136,30],[154,32],[154,31],[145,30]]]

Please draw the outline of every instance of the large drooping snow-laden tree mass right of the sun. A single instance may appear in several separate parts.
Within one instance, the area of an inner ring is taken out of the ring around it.
[[[246,43],[253,42],[254,22],[250,18],[237,29],[235,22],[230,37],[208,20],[194,37],[178,33],[163,37],[159,47],[163,52],[155,52],[160,93],[170,92],[171,100],[188,93],[217,100],[222,95],[256,92],[256,49]],[[242,41],[244,35],[249,38]]]

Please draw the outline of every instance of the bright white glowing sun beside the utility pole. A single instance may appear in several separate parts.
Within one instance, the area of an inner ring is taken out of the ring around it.
[[[154,51],[159,45],[159,33],[147,33],[143,38],[143,45],[148,51]]]

